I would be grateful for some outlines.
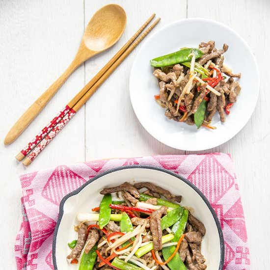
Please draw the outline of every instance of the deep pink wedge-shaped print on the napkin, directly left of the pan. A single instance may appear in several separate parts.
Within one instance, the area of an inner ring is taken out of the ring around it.
[[[31,227],[29,252],[33,252],[54,232],[56,222],[51,217],[46,216],[34,208],[28,209],[27,217]]]

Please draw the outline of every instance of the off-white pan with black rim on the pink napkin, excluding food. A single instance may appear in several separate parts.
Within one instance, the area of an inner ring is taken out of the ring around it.
[[[59,218],[54,231],[53,262],[55,270],[78,270],[78,265],[71,265],[66,256],[70,253],[67,243],[76,239],[73,229],[78,224],[76,216],[80,212],[99,205],[102,195],[99,191],[107,187],[122,184],[125,181],[153,182],[173,194],[183,196],[181,204],[194,209],[194,216],[205,225],[206,235],[202,242],[202,254],[206,258],[207,270],[221,270],[224,262],[224,241],[215,211],[206,197],[188,180],[170,171],[148,167],[128,166],[105,172],[80,189],[65,196],[60,203]]]

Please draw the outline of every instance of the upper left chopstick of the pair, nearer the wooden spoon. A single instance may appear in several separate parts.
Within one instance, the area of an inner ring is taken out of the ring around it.
[[[145,27],[153,20],[156,16],[154,13],[151,17],[135,32],[135,34],[128,40],[128,42],[108,61],[108,63],[95,75],[95,77],[89,81],[81,91],[63,108],[54,119],[44,127],[39,134],[37,134],[24,149],[18,153],[16,159],[22,161],[27,154],[29,154],[39,142],[45,138],[45,136],[62,120],[62,118],[73,108],[78,101],[87,93],[87,91],[104,75],[104,73],[109,69],[109,67],[121,56],[127,48],[135,41],[138,35],[143,31]]]

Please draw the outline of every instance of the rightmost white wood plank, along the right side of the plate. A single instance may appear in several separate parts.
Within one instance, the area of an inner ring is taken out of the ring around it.
[[[209,0],[207,4],[201,4],[199,0],[188,1],[188,17],[214,19],[235,29],[253,50],[260,67],[260,97],[252,118],[233,139],[210,150],[232,154],[254,269],[268,269],[270,263],[270,217],[266,215],[270,211],[270,107],[266,102],[269,96],[270,37],[266,33],[270,28],[269,11],[270,1],[267,0]],[[261,240],[259,248],[258,240]]]

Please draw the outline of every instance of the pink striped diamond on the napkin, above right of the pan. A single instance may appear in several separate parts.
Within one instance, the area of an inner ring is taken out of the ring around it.
[[[213,155],[206,155],[189,175],[188,180],[200,189],[212,204],[221,199],[234,183],[234,178]]]

